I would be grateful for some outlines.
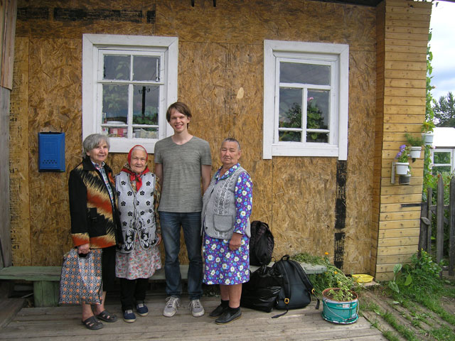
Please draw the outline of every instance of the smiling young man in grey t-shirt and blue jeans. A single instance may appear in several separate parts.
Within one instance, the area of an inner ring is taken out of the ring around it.
[[[166,306],[163,315],[176,314],[182,293],[180,263],[180,227],[183,227],[188,268],[188,296],[191,313],[195,317],[204,315],[200,303],[202,296],[202,256],[200,248],[200,211],[202,193],[210,184],[212,158],[208,142],[189,134],[188,124],[191,111],[182,102],[168,107],[166,119],[174,134],[155,145],[155,174],[160,179],[161,201],[159,218],[166,252]],[[202,193],[200,183],[202,180]]]

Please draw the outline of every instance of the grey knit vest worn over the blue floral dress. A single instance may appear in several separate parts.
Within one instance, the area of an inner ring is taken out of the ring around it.
[[[218,180],[215,175],[203,196],[201,220],[203,231],[209,237],[218,239],[230,239],[234,233],[235,224],[235,184],[240,173],[247,173],[242,167],[238,167],[228,178]],[[248,220],[245,234],[250,237],[250,220]]]

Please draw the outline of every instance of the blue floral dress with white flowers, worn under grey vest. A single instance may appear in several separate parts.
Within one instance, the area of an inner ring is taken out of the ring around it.
[[[235,172],[238,163],[232,166],[220,178],[220,169],[215,173],[215,180],[228,178]],[[248,218],[252,210],[252,190],[253,183],[250,175],[240,173],[235,185],[235,200],[237,214],[235,217],[234,232],[243,234],[240,247],[231,251],[229,249],[229,239],[211,238],[204,234],[203,254],[204,254],[204,278],[205,284],[224,284],[233,285],[245,283],[250,280],[250,238],[245,234]]]

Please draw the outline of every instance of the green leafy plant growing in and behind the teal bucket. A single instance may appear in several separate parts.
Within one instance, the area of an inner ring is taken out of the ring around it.
[[[327,271],[323,274],[309,275],[310,281],[313,283],[314,290],[316,291],[317,295],[321,296],[322,291],[327,288],[342,288],[343,291],[341,293],[337,293],[337,297],[348,298],[350,295],[352,295],[350,293],[350,289],[352,289],[356,283],[352,278],[347,277],[345,274],[343,274],[343,271],[328,261],[327,253],[323,257],[312,256],[306,253],[296,254],[292,257],[292,259],[304,263],[326,266]]]

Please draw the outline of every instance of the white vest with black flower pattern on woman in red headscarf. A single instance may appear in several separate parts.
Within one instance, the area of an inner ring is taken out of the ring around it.
[[[115,177],[118,196],[118,210],[122,225],[124,244],[120,252],[129,253],[134,249],[136,235],[143,249],[150,249],[156,238],[154,212],[155,175],[142,175],[141,188],[134,193],[129,174],[120,172]]]

